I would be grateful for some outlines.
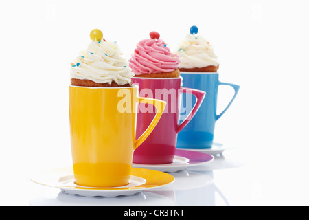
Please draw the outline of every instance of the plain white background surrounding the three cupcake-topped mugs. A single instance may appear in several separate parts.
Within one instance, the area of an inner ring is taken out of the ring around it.
[[[308,6],[306,0],[1,1],[0,204],[27,205],[31,170],[71,164],[69,68],[93,28],[129,58],[152,30],[176,50],[197,25],[218,54],[220,80],[240,85],[216,124],[215,141],[244,148],[248,192],[261,191],[258,200],[238,198],[234,186],[222,184],[231,205],[308,205]],[[220,88],[218,111],[229,98],[231,90]]]

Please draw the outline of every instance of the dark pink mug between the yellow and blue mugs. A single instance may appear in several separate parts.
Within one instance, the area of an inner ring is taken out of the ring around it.
[[[133,77],[133,84],[139,85],[140,96],[164,100],[167,105],[155,129],[148,139],[134,151],[135,164],[170,164],[176,151],[177,134],[193,118],[205,97],[205,91],[181,87],[182,78],[138,78]],[[196,96],[196,104],[187,118],[179,124],[181,94]],[[148,104],[139,104],[137,113],[137,131],[139,137],[155,117],[155,108]]]

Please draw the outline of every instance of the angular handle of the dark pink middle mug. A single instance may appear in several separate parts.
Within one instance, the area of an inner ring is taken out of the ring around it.
[[[189,89],[189,88],[181,88],[181,92],[190,93],[196,96],[196,103],[194,104],[194,107],[192,108],[192,111],[187,115],[187,118],[183,120],[181,124],[179,124],[177,128],[177,133],[179,133],[189,122],[192,120],[198,109],[201,107],[201,104],[205,98],[205,91],[197,90],[197,89]]]

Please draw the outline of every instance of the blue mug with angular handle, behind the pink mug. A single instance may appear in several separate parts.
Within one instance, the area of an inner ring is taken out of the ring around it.
[[[183,87],[205,91],[206,96],[194,118],[179,132],[176,147],[186,149],[211,148],[214,140],[215,123],[231,106],[240,86],[231,83],[221,83],[219,81],[219,74],[214,72],[181,72],[181,77],[183,78]],[[217,115],[219,85],[229,85],[233,87],[235,93],[227,107]],[[186,117],[183,113],[190,113],[195,102],[195,96],[183,94],[181,118]]]

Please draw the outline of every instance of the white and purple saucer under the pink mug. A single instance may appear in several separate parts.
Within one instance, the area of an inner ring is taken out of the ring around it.
[[[204,165],[213,161],[214,156],[207,153],[176,149],[174,160],[171,164],[132,164],[132,166],[174,173],[179,170],[185,170],[189,166]]]

